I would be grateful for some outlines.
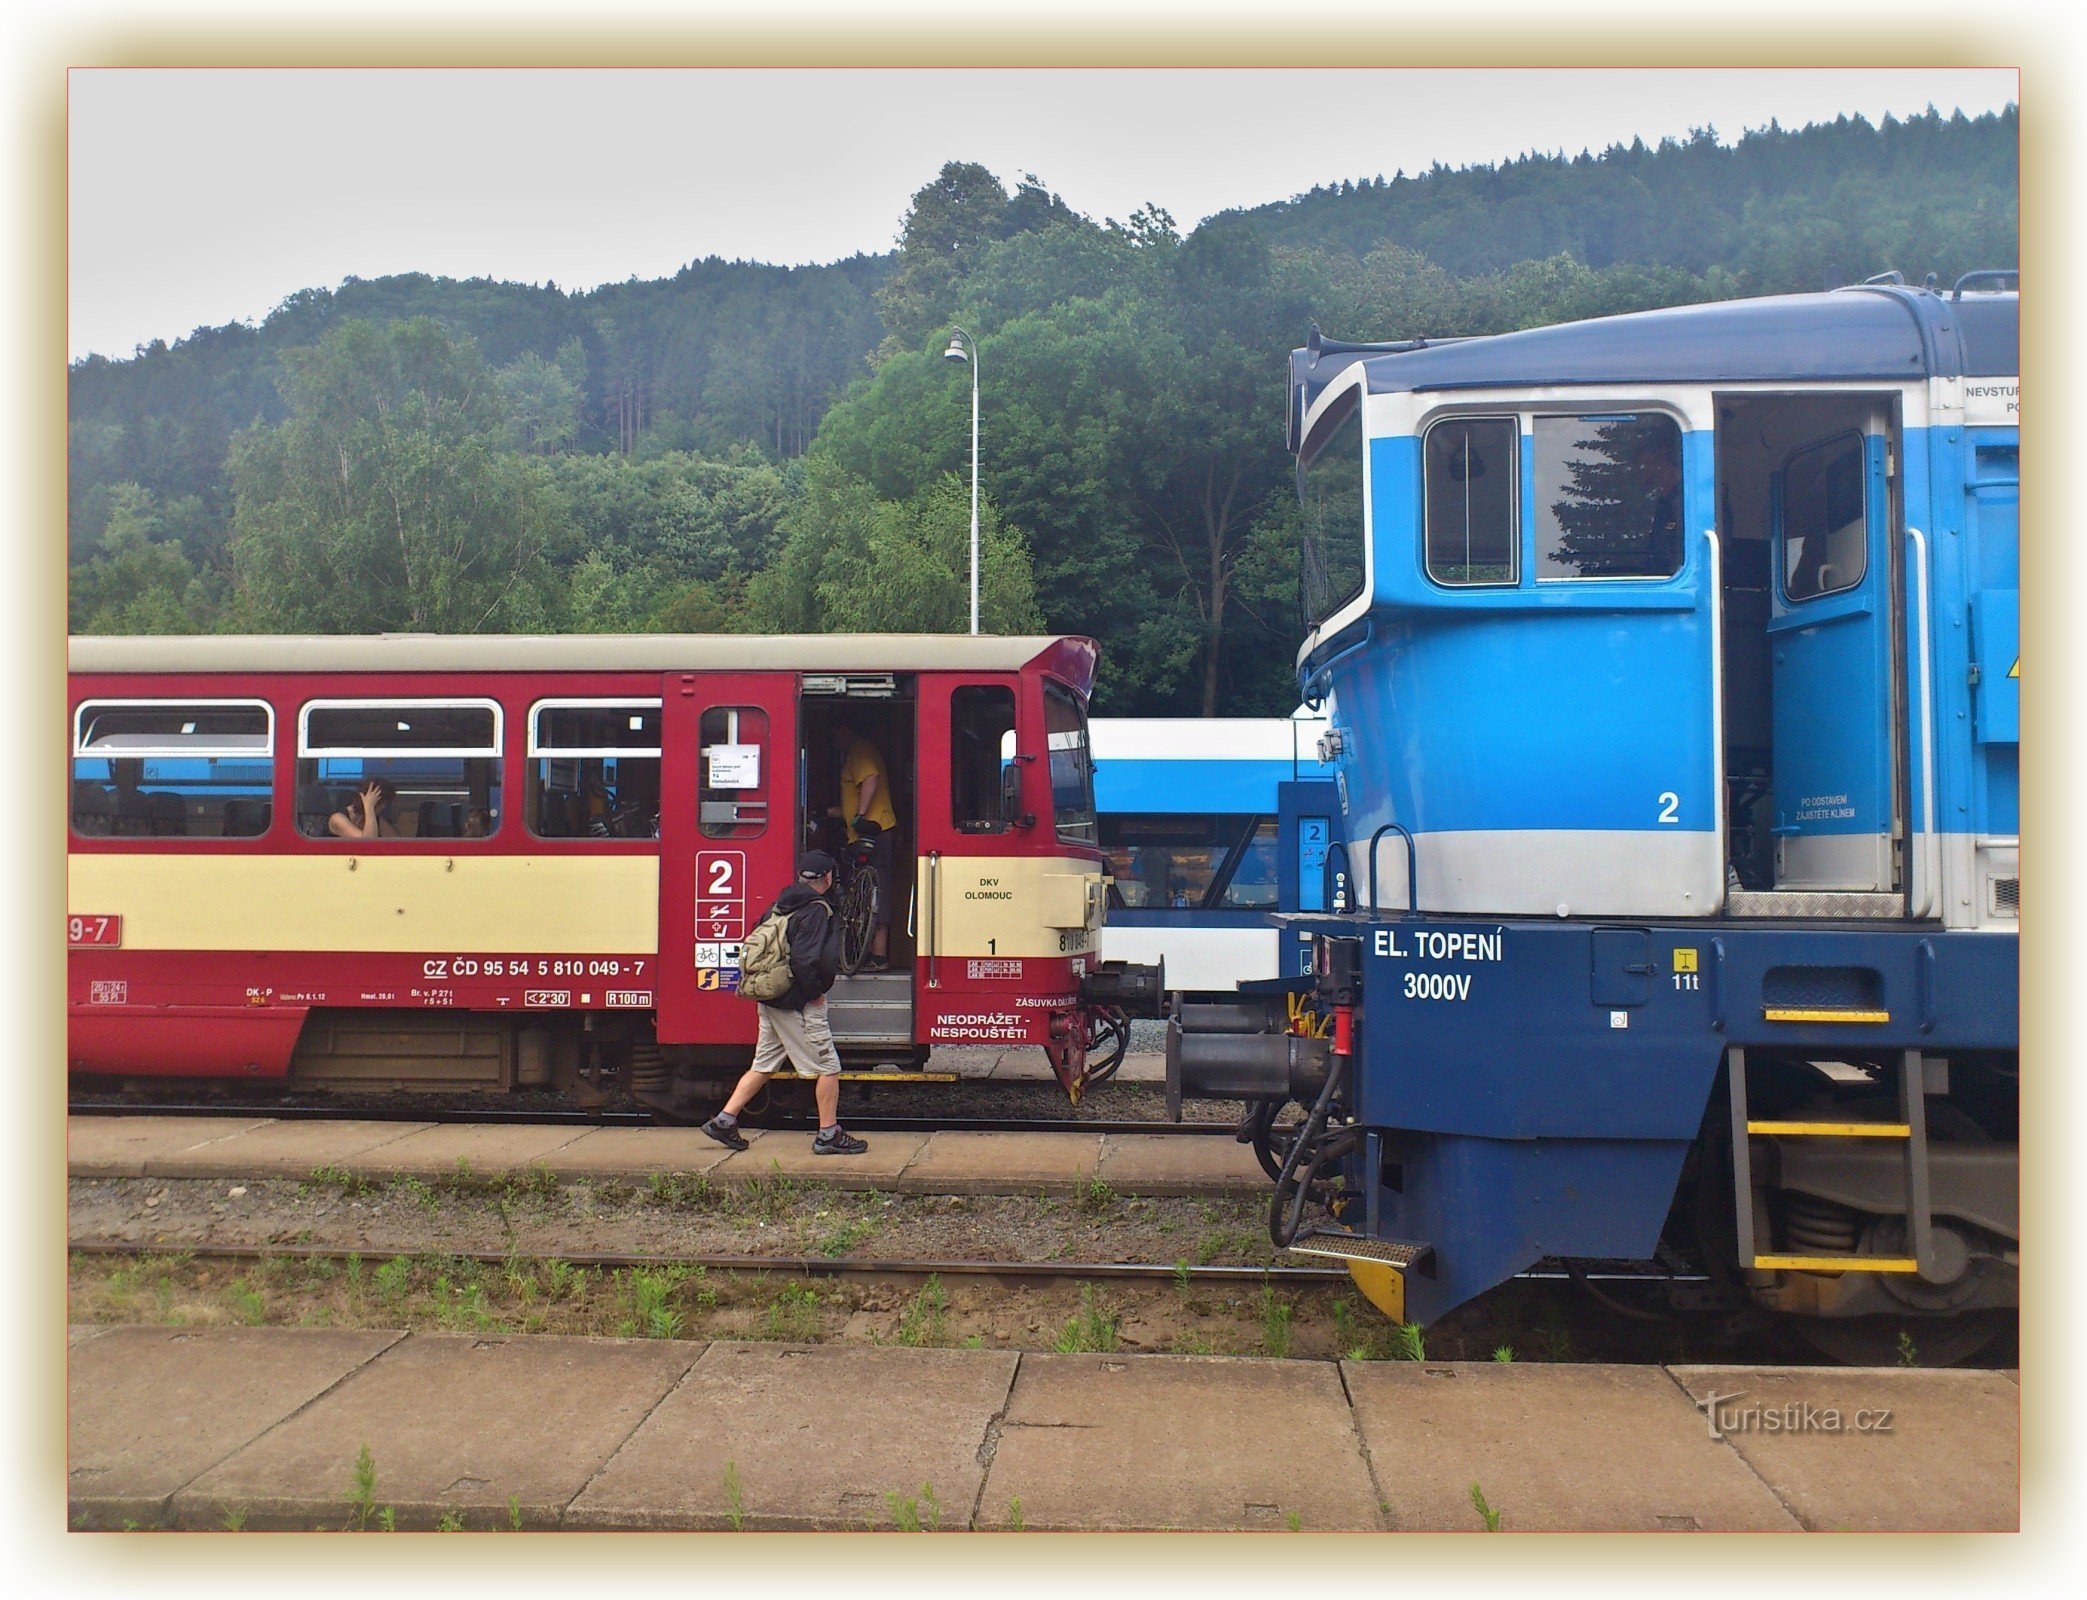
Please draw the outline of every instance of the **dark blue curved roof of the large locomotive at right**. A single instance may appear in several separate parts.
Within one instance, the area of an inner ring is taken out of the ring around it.
[[[1830,294],[1632,311],[1515,334],[1290,353],[1290,446],[1319,392],[1357,361],[1371,394],[1538,384],[1845,382],[2012,378],[2016,292],[1862,286]]]

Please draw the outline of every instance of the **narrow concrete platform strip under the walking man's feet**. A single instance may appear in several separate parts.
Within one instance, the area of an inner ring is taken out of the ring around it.
[[[701,1172],[714,1183],[787,1177],[891,1193],[1066,1193],[1100,1177],[1131,1195],[1265,1195],[1252,1149],[1225,1137],[1098,1133],[864,1133],[862,1156],[814,1156],[810,1133],[747,1129],[733,1151],[701,1129],[467,1126],[430,1122],[269,1122],[184,1116],[79,1116],[73,1177],[309,1179],[334,1166],[374,1179],[549,1170],[643,1181]]]

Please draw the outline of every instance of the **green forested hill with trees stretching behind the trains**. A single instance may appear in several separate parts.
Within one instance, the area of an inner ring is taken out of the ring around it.
[[[301,290],[71,369],[71,626],[962,628],[1104,643],[1098,709],[1281,711],[1281,365],[1885,269],[2016,261],[2016,117],[1342,179],[1183,236],[950,163],[899,248],[557,286]]]

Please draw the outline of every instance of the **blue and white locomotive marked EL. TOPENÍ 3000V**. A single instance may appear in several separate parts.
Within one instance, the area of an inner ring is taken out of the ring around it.
[[[1893,273],[1292,353],[1357,903],[1169,1028],[1279,1243],[1417,1323],[1538,1260],[1855,1356],[2012,1316],[2018,315]]]

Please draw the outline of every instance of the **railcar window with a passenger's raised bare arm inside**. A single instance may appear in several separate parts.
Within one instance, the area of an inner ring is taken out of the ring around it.
[[[307,839],[363,843],[371,784],[382,786],[376,839],[499,832],[501,707],[493,701],[309,701],[296,757],[296,830]]]

